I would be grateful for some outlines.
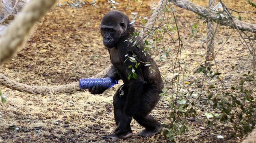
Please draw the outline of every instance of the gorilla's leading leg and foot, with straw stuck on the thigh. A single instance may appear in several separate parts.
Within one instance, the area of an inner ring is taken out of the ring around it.
[[[117,139],[125,139],[132,137],[132,129],[130,127],[130,122],[132,117],[124,114],[124,107],[126,104],[128,95],[128,88],[126,86],[121,86],[113,97],[115,123],[117,127],[115,128],[115,134],[106,135],[102,138],[111,138],[112,141]]]

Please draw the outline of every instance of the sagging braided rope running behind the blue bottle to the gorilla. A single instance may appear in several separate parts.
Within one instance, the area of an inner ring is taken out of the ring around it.
[[[92,76],[91,78],[102,78],[111,68],[111,65],[108,66],[106,69],[101,71],[100,73]],[[27,84],[22,84],[19,82],[15,82],[13,80],[8,79],[7,77],[0,74],[0,84],[5,85],[8,88],[18,90],[24,93],[31,93],[31,94],[49,94],[49,93],[70,93],[73,91],[78,91],[80,88],[78,87],[78,82],[74,82],[71,84],[61,85],[61,86],[29,86]]]

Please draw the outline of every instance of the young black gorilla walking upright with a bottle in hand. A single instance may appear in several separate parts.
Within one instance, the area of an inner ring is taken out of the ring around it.
[[[124,85],[115,93],[113,99],[114,115],[117,127],[115,134],[106,135],[102,138],[111,138],[113,141],[121,138],[132,137],[130,122],[134,118],[144,130],[139,132],[140,136],[152,136],[161,128],[161,123],[149,115],[150,111],[158,103],[163,88],[163,80],[159,69],[148,53],[146,56],[143,51],[145,43],[141,38],[136,37],[137,46],[133,46],[129,39],[135,32],[135,28],[129,23],[129,18],[120,11],[110,11],[102,18],[100,30],[103,37],[103,44],[108,49],[110,59],[113,65],[106,76],[113,80],[122,79]],[[139,46],[138,46],[139,45]],[[128,56],[127,56],[128,55]],[[136,62],[130,61],[129,57],[136,55],[136,61],[139,63],[136,68]],[[127,60],[126,60],[127,59]],[[145,63],[150,63],[153,72],[150,73]],[[135,69],[137,74],[128,80],[128,73]],[[89,88],[92,94],[103,93],[104,88],[100,85]],[[123,93],[123,94],[121,94]]]

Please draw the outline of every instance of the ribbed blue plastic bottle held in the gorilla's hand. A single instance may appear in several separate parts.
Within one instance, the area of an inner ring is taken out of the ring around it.
[[[98,84],[100,84],[102,88],[111,88],[117,83],[117,80],[112,80],[111,78],[81,78],[79,79],[79,88],[88,89]]]

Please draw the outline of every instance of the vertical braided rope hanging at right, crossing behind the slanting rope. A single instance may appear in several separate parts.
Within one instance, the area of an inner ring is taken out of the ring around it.
[[[210,7],[215,6],[215,0],[208,0],[208,9]],[[206,60],[207,61],[212,61],[214,58],[214,45],[213,45],[213,37],[214,37],[214,31],[215,31],[215,23],[212,21],[208,21],[207,23],[207,29],[206,29],[206,48],[207,48],[207,53],[206,53]]]

